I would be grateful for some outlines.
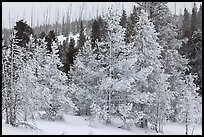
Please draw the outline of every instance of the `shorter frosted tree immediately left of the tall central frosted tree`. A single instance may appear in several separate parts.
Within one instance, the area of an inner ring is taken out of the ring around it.
[[[77,115],[90,115],[90,105],[94,98],[93,92],[97,91],[97,76],[94,71],[95,56],[91,39],[86,35],[84,46],[79,49],[74,64],[69,72],[69,89],[77,106]]]

